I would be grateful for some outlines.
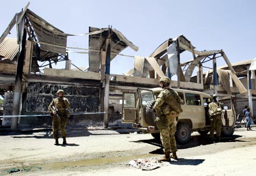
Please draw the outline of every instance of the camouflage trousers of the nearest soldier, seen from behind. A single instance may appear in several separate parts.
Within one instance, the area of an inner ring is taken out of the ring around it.
[[[176,117],[171,117],[166,115],[166,128],[160,130],[160,137],[161,141],[163,144],[163,147],[165,148],[165,153],[166,152],[176,152],[177,147],[176,147],[176,140],[175,140],[175,126],[176,123],[174,122]]]

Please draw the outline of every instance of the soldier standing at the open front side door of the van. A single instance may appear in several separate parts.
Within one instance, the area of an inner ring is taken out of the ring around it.
[[[217,107],[221,107],[223,109],[223,103],[218,103],[216,94],[213,95],[213,102],[208,105],[209,109],[212,109],[213,112],[217,112]],[[222,126],[222,120],[221,120],[222,111],[218,113],[214,113],[211,117],[211,130],[210,130],[210,138],[212,141],[214,141],[214,131],[216,128],[216,134],[218,141],[221,140],[221,126]]]

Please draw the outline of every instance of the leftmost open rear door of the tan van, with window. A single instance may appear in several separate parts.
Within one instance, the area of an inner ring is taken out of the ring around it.
[[[122,123],[136,121],[136,93],[124,92],[122,102]]]

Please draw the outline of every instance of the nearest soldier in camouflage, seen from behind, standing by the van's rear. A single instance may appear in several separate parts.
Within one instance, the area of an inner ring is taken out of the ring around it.
[[[171,80],[168,77],[160,79],[160,87],[163,89],[157,96],[154,104],[154,111],[157,117],[166,118],[165,126],[160,129],[160,137],[165,149],[165,156],[159,161],[171,161],[171,158],[177,160],[177,147],[174,134],[176,132],[176,117],[182,112],[180,104],[182,99],[178,93],[169,88]],[[170,153],[172,156],[170,157]]]

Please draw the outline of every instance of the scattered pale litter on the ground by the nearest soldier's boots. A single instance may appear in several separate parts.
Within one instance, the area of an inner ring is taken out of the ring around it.
[[[160,163],[158,163],[157,158],[131,160],[129,161],[129,165],[137,169],[142,169],[143,171],[151,171],[160,168]]]

